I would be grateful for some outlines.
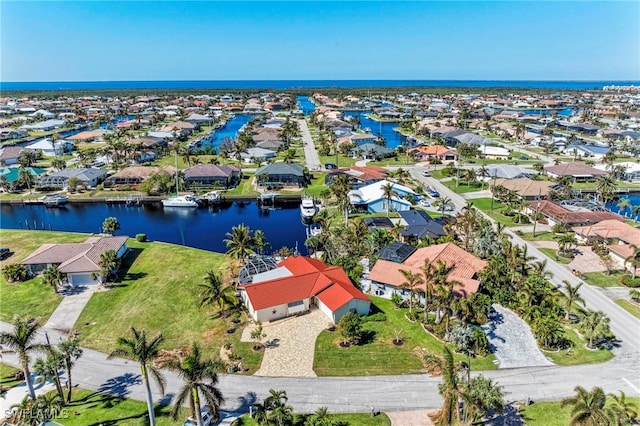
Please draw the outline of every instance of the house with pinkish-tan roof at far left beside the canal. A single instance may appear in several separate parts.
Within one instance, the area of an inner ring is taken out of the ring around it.
[[[99,284],[103,282],[100,255],[113,250],[121,259],[127,252],[128,238],[90,237],[84,243],[43,244],[20,263],[26,265],[31,274],[38,274],[49,266],[57,266],[74,287]]]

